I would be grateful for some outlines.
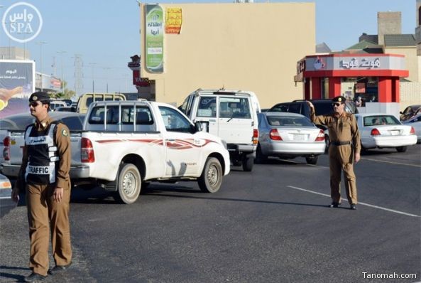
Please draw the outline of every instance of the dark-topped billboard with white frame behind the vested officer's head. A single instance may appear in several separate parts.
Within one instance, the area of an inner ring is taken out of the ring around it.
[[[28,112],[28,99],[35,92],[35,62],[0,60],[0,118]]]

